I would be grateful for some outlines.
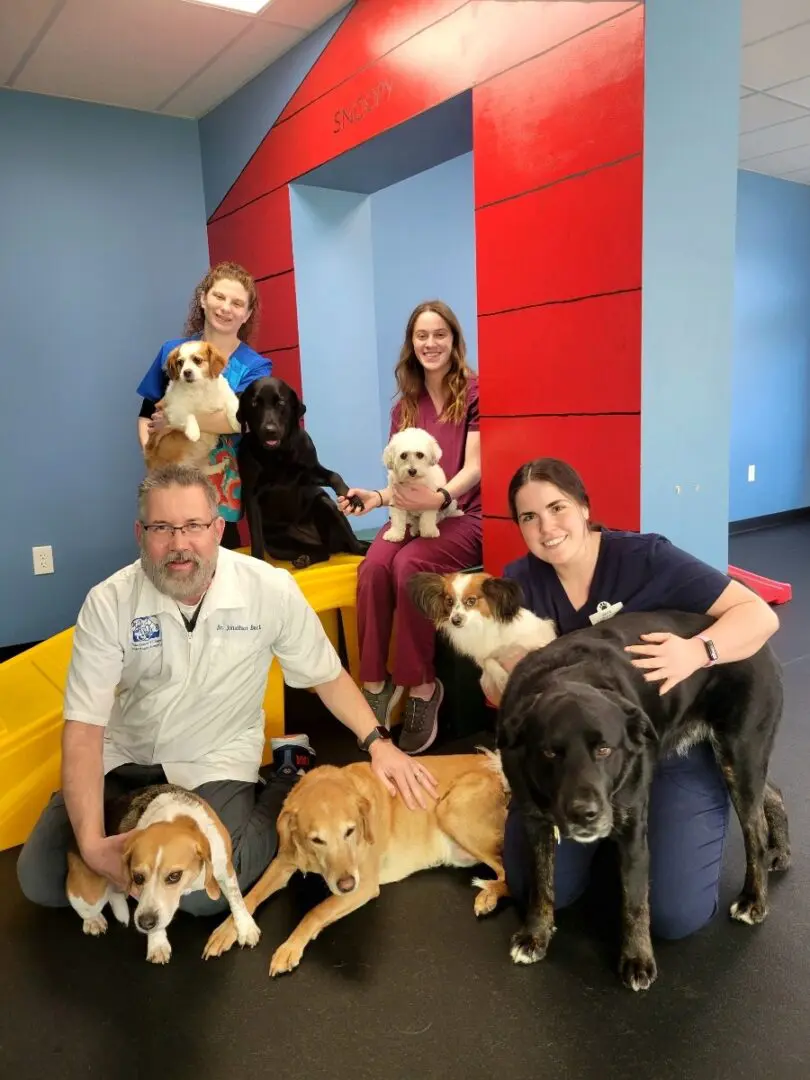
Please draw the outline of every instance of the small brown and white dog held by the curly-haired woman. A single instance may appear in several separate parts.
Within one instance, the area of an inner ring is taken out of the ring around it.
[[[224,410],[237,432],[239,399],[222,375],[228,361],[207,341],[184,341],[166,356],[168,387],[159,402],[167,429],[152,433],[144,447],[147,469],[186,464],[203,468],[219,438],[200,431],[198,414]]]

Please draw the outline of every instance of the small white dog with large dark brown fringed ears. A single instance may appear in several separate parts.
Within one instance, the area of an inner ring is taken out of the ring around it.
[[[470,657],[499,693],[508,674],[498,654],[512,646],[541,649],[557,636],[551,619],[541,619],[524,607],[523,591],[510,578],[489,573],[415,573],[407,591],[457,652]]]

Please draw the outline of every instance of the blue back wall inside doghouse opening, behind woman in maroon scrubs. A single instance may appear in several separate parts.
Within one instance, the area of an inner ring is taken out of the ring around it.
[[[388,440],[394,367],[405,323],[422,300],[449,303],[477,365],[473,158],[464,153],[372,195],[381,437]]]

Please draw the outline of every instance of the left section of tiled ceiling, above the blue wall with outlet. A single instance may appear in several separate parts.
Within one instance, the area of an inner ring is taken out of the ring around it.
[[[0,0],[0,86],[201,117],[348,0]]]

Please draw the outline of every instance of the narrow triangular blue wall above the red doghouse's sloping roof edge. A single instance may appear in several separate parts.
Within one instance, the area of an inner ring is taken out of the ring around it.
[[[347,4],[200,120],[207,217],[254,156],[351,8],[352,3]]]

